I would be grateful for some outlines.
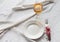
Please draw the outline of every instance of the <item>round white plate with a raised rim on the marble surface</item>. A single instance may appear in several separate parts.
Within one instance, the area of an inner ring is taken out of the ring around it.
[[[36,20],[27,22],[24,28],[24,35],[30,39],[38,39],[44,33],[44,26]]]

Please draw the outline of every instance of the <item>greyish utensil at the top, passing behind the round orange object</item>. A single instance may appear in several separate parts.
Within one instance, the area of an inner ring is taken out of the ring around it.
[[[49,5],[51,3],[54,3],[53,1],[44,1],[40,2],[43,6]],[[36,4],[36,3],[35,3]],[[27,9],[33,9],[34,4],[28,4],[28,5],[22,5],[22,6],[16,6],[12,8],[14,11],[20,11],[20,10],[27,10]]]

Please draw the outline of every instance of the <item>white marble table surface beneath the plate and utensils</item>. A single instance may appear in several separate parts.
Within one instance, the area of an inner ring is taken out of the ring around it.
[[[0,14],[9,15],[9,13],[11,13],[11,11],[12,11],[11,8],[14,7],[21,0],[16,0],[16,1],[15,0],[5,0],[5,1],[6,1],[5,4],[3,3],[5,6],[2,5],[0,7],[0,9],[1,9]],[[33,3],[34,1],[26,0],[26,4]],[[40,15],[40,20],[44,23],[46,18],[49,19],[49,24],[51,27],[51,38],[52,38],[51,42],[60,42],[60,0],[55,0],[55,2],[56,2],[56,4],[50,12]],[[21,11],[21,12],[15,12],[8,20],[10,20],[12,22],[17,22],[33,13],[34,12],[32,9],[26,10],[26,11]],[[3,15],[0,16],[0,20],[2,20],[2,21],[7,20],[7,16],[5,16],[5,17]],[[32,18],[32,19],[34,19],[34,18]],[[23,26],[23,24],[19,25],[18,27],[15,27],[15,29],[17,31],[22,31],[22,26]],[[20,32],[15,32],[15,29],[12,29],[11,31],[7,32],[0,39],[0,42],[29,42],[23,36],[20,35]],[[39,40],[38,42],[47,42],[47,41],[43,38],[43,39]]]

